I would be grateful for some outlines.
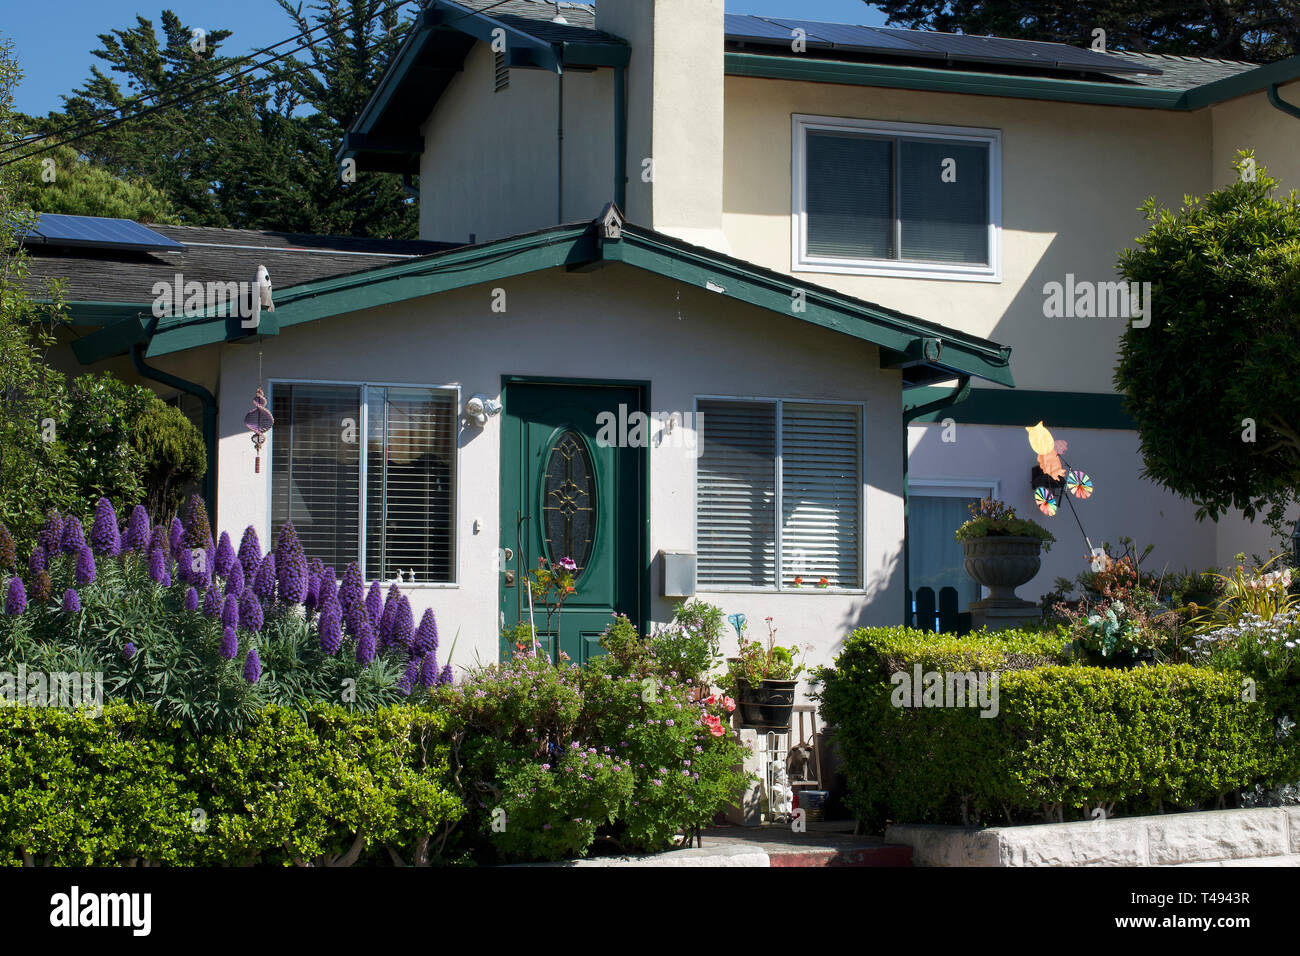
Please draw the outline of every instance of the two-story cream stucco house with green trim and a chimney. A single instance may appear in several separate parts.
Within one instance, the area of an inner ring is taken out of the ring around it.
[[[291,519],[339,570],[400,571],[456,665],[497,658],[541,557],[578,568],[575,659],[696,594],[819,663],[901,622],[909,576],[978,594],[953,531],[991,493],[1039,516],[1040,419],[1092,475],[1095,544],[1174,568],[1266,546],[1140,477],[1112,386],[1131,319],[1053,315],[1045,287],[1114,282],[1138,206],[1238,148],[1296,182],[1296,78],[722,0],[429,0],[339,160],[419,174],[448,247],[277,286],[255,329],[118,303],[77,351],[199,382],[220,525]],[[1086,567],[1039,518],[1031,598]]]

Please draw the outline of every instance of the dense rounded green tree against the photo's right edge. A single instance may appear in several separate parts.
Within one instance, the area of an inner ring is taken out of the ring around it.
[[[1282,518],[1300,489],[1300,198],[1248,151],[1238,178],[1150,226],[1119,255],[1150,282],[1150,324],[1123,334],[1115,385],[1138,423],[1147,475],[1192,498]]]

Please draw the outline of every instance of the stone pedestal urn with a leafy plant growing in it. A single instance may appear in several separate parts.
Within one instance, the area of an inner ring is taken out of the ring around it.
[[[971,505],[971,518],[957,529],[966,574],[988,588],[988,597],[971,605],[972,623],[1014,626],[1039,617],[1037,605],[1022,601],[1015,589],[1043,566],[1041,551],[1052,548],[1052,532],[993,498]]]

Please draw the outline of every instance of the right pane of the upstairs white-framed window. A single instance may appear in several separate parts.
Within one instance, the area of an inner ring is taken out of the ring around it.
[[[898,156],[901,258],[987,263],[988,147],[904,140]]]

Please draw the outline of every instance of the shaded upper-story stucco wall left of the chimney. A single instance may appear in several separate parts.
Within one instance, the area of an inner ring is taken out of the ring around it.
[[[559,78],[512,69],[493,91],[494,59],[474,44],[424,125],[420,238],[478,242],[595,219],[614,199],[614,77],[564,74],[564,211],[559,215]]]

